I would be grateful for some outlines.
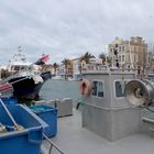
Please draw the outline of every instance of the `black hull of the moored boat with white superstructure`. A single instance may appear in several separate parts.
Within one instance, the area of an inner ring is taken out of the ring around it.
[[[43,84],[51,78],[51,72],[41,73],[40,75],[19,76],[9,79],[13,86],[13,95],[18,98],[35,99],[38,97]]]

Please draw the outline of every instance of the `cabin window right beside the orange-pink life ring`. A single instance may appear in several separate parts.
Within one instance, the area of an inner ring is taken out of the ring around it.
[[[92,96],[103,97],[103,95],[105,95],[105,82],[94,80],[92,81]]]

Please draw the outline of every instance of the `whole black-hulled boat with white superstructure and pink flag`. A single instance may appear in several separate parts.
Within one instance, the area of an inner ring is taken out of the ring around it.
[[[46,61],[48,61],[48,55],[43,55],[35,63],[31,63],[19,47],[19,52],[13,55],[8,65],[10,76],[2,82],[12,85],[15,97],[35,99],[43,84],[51,78],[51,72],[41,70],[41,65]]]

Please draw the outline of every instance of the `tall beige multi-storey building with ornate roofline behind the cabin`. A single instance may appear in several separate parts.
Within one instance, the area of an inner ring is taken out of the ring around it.
[[[116,47],[118,48],[117,51]],[[151,66],[152,54],[147,51],[145,41],[140,36],[132,36],[128,41],[116,37],[109,44],[108,50],[112,66],[117,66],[118,62],[119,67],[138,69],[141,73],[145,73]]]

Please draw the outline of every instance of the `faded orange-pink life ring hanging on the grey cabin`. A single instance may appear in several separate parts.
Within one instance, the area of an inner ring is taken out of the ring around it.
[[[79,92],[82,96],[89,96],[91,94],[91,85],[89,80],[82,79],[79,86]]]

